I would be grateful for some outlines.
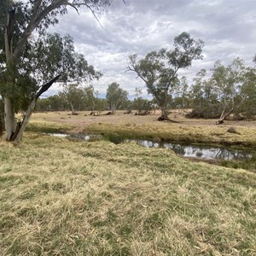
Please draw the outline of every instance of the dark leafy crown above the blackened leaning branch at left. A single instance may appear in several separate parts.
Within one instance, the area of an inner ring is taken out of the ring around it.
[[[57,33],[45,34],[38,38],[32,47],[31,60],[43,83],[58,73],[61,73],[59,81],[64,83],[80,83],[102,76],[88,64],[84,55],[75,51],[73,38],[68,34],[64,37]]]

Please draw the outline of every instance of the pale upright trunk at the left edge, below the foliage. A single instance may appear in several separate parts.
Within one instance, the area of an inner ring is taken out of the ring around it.
[[[11,141],[16,129],[15,108],[8,97],[4,97],[4,125],[6,131],[6,140]]]

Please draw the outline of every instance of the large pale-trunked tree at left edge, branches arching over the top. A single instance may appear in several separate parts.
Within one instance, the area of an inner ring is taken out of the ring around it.
[[[67,14],[68,6],[77,11],[84,6],[95,15],[97,10],[106,8],[110,3],[111,0],[1,0],[0,84],[3,87],[1,95],[8,141],[20,141],[38,97],[61,77],[60,73],[55,73],[44,84],[38,84],[37,76],[29,75],[34,67],[30,67],[26,53],[30,50],[32,33],[37,31],[40,35],[44,34],[50,25],[58,23],[59,15]],[[20,124],[16,124],[16,100],[18,98],[22,102],[28,95],[30,104],[26,115]]]

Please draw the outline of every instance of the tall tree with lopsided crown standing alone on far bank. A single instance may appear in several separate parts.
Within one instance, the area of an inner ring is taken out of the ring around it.
[[[137,55],[129,56],[128,70],[143,79],[148,93],[161,108],[160,119],[167,119],[167,106],[177,90],[177,72],[190,67],[193,60],[202,58],[203,44],[201,39],[196,40],[183,32],[174,38],[174,49],[151,51],[141,60],[137,60]]]

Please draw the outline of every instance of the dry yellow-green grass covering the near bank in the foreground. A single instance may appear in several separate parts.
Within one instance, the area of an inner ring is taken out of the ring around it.
[[[27,132],[0,143],[0,254],[255,255],[255,184],[166,149]]]

